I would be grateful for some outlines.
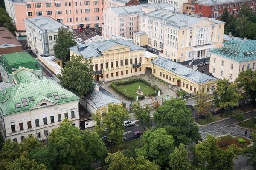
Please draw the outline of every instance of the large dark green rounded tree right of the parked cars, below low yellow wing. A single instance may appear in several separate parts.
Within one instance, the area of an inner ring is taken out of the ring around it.
[[[175,146],[201,141],[199,127],[194,123],[191,109],[181,99],[170,99],[154,112],[157,127],[165,128],[175,140]]]

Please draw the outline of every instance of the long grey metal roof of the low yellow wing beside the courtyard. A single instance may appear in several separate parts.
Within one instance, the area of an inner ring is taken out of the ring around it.
[[[185,65],[179,64],[177,62],[173,62],[169,59],[163,57],[157,57],[153,61],[151,61],[154,65],[158,65],[159,67],[171,71],[181,77],[192,80],[198,84],[207,82],[208,80],[216,81],[218,80],[215,77],[209,76],[207,74],[201,73],[199,71],[193,70]]]

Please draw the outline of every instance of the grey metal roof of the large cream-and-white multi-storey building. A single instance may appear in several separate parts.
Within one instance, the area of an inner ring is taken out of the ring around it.
[[[174,26],[176,28],[189,28],[196,23],[199,23],[201,20],[208,20],[213,23],[224,23],[222,21],[215,20],[214,18],[192,16],[166,10],[152,11],[148,14],[142,15],[141,17],[163,22],[166,26]]]

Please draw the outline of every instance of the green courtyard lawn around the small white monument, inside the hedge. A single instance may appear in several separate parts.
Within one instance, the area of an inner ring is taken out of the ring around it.
[[[140,86],[140,90],[146,95],[148,96],[148,94],[152,94],[155,93],[155,89],[152,88],[151,86],[147,85],[143,82],[134,82],[128,85],[117,85],[116,89],[119,91],[122,91],[123,93],[131,94],[131,96],[134,96],[134,100],[136,99],[136,96],[139,96],[139,94],[135,93],[136,91],[138,91],[138,88]]]

